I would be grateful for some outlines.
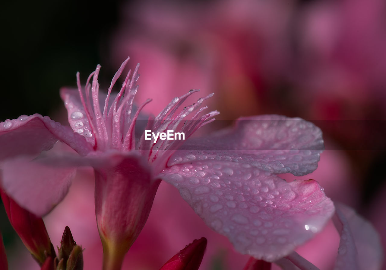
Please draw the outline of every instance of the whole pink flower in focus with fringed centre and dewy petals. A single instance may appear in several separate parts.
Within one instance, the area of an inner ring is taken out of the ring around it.
[[[201,116],[206,108],[201,104],[211,94],[178,113],[196,92],[191,90],[151,117],[145,128],[137,119],[150,100],[137,110],[132,105],[138,66],[131,80],[129,72],[119,94],[110,97],[128,60],[113,77],[103,109],[99,65],[85,91],[79,74],[78,91],[62,89],[73,131],[39,114],[1,123],[2,186],[22,207],[46,214],[68,192],[76,167],[92,166],[104,269],[120,269],[146,222],[161,179],[176,186],[206,224],[227,236],[239,252],[258,259],[286,256],[322,229],[334,206],[318,183],[312,179],[287,183],[276,176],[300,176],[316,169],[323,149],[319,128],[299,118],[254,116],[184,144],[145,140],[145,129],[179,130],[188,138],[218,112]],[[182,122],[197,109],[191,121]],[[42,152],[57,140],[79,155]]]

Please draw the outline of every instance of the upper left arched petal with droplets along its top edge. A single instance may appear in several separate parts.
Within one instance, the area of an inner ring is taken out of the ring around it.
[[[14,120],[6,120],[0,123],[0,161],[19,155],[37,156],[41,151],[51,149],[58,140],[80,155],[92,150],[83,137],[48,116],[22,115]]]

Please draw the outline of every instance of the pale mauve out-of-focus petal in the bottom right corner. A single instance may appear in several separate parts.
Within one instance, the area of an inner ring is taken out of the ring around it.
[[[378,232],[350,207],[335,203],[340,234],[335,270],[379,270],[383,250]]]

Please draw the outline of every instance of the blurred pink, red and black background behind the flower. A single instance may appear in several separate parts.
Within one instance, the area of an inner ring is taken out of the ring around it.
[[[213,123],[213,129],[257,114],[301,117],[322,128],[326,151],[318,169],[301,179],[319,181],[329,197],[371,220],[385,246],[383,0],[147,0],[91,5],[43,0],[1,6],[1,121],[40,113],[66,123],[60,87],[74,87],[77,71],[84,82],[100,63],[99,81],[107,89],[120,63],[130,56],[130,68],[141,63],[137,103],[152,98],[147,111],[153,114],[173,97],[201,89],[201,96],[215,92],[209,106],[221,112],[216,117],[221,121]],[[85,262],[85,270],[98,269],[102,256],[89,176],[87,171],[78,173],[66,202],[46,220],[54,245],[59,244],[64,226],[70,227],[75,241],[85,248],[85,260],[95,260],[93,265]],[[20,267],[10,269],[37,269],[27,266],[28,255],[3,207],[0,215],[11,265]],[[158,269],[201,236],[209,242],[200,269],[242,269],[247,256],[234,253],[173,187],[162,184],[124,269]],[[321,269],[332,267],[335,254],[336,249],[323,255],[303,250],[303,256]]]

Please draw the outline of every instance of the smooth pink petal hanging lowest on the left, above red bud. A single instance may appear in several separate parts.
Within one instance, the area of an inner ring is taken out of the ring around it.
[[[41,217],[63,200],[74,174],[71,167],[52,167],[19,157],[3,162],[1,184],[21,207]]]

